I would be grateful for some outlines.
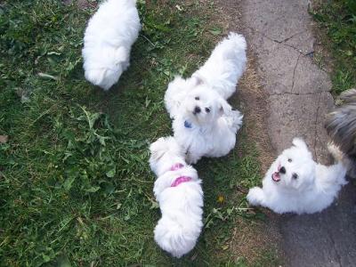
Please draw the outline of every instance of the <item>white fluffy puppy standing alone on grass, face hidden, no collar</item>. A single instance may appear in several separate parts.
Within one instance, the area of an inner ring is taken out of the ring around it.
[[[107,0],[85,29],[85,78],[108,90],[130,65],[131,46],[141,29],[135,0]]]

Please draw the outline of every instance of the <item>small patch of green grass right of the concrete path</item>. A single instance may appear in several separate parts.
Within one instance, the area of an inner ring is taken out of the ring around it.
[[[325,0],[312,11],[328,37],[323,39],[333,61],[333,92],[338,94],[356,85],[356,2]]]

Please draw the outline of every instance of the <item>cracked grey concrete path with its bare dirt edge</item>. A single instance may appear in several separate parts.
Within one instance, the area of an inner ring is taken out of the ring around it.
[[[228,28],[247,35],[250,61],[240,97],[263,171],[295,136],[304,138],[316,160],[329,160],[323,121],[333,107],[331,82],[313,63],[315,39],[308,4],[307,0],[218,2]],[[287,266],[352,266],[355,201],[354,187],[349,185],[337,203],[320,214],[271,216],[273,230],[265,235],[278,237]]]

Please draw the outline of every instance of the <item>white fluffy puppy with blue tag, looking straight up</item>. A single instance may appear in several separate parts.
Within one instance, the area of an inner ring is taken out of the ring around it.
[[[235,147],[242,117],[219,93],[204,84],[196,85],[174,117],[174,138],[190,164],[202,157],[223,157]]]

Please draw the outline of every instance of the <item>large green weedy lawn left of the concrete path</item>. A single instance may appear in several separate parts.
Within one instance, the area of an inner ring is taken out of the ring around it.
[[[198,246],[175,260],[154,243],[160,214],[148,146],[171,134],[166,85],[196,69],[222,30],[209,25],[213,4],[139,2],[131,67],[109,93],[89,85],[82,69],[93,10],[54,0],[1,4],[0,134],[9,142],[0,144],[0,265],[249,263],[227,247],[238,218],[251,227],[263,219],[237,193],[261,178],[244,134],[228,157],[197,166],[206,223]],[[274,261],[265,251],[261,259]]]

